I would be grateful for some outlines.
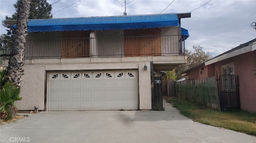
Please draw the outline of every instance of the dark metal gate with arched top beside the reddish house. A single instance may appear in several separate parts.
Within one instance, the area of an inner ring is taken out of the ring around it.
[[[238,76],[220,75],[218,79],[220,107],[222,111],[240,109]]]

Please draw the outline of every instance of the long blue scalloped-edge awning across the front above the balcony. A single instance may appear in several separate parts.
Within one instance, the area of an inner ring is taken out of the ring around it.
[[[177,14],[29,20],[28,32],[140,29],[167,26],[179,26]]]

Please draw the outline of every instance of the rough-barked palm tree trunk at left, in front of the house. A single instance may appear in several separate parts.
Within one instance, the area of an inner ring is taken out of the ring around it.
[[[11,53],[8,65],[8,77],[16,85],[20,86],[21,76],[24,74],[24,49],[26,43],[30,0],[18,0],[18,17],[14,34],[14,49]]]

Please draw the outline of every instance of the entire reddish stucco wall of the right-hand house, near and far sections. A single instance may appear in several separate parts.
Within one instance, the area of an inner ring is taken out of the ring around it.
[[[242,110],[256,113],[256,51],[251,51],[238,56],[234,56],[211,65],[203,66],[204,74],[200,74],[200,68],[189,71],[188,79],[198,79],[205,77],[217,77],[222,75],[222,66],[234,63],[234,74],[238,75],[240,107]]]

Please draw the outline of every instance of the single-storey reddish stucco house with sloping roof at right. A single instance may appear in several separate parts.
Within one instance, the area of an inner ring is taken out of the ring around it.
[[[256,113],[256,39],[183,72],[186,79],[215,76],[221,107]]]

